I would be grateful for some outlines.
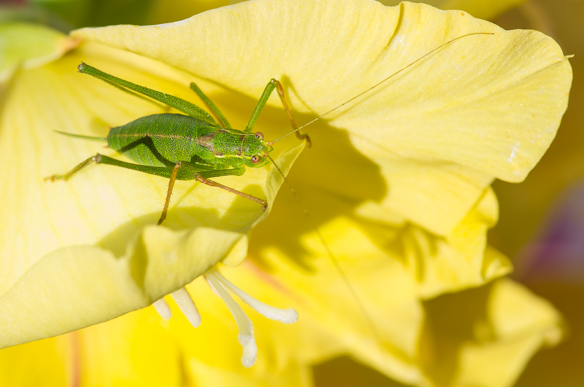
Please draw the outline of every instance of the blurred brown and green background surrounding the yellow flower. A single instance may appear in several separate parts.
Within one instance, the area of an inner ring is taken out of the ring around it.
[[[541,162],[521,184],[496,181],[498,225],[489,243],[516,265],[512,277],[550,300],[567,324],[566,339],[539,351],[516,385],[583,386],[584,367],[584,0],[426,1],[463,9],[505,29],[536,29],[553,37],[570,59],[568,110]],[[151,25],[186,19],[228,5],[219,0],[0,0],[0,23],[27,20],[62,32],[85,26]],[[395,5],[397,1],[383,1]],[[447,296],[442,296],[447,297]],[[439,305],[441,298],[429,300]],[[317,386],[400,386],[351,360],[314,368]]]

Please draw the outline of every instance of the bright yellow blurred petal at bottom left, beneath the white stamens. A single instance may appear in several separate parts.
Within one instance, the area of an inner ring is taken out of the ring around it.
[[[270,290],[273,292],[274,288]],[[258,324],[258,344],[265,355],[251,369],[243,368],[235,350],[238,347],[237,329],[232,327],[235,322],[224,303],[204,281],[194,281],[189,291],[197,295],[197,304],[201,306],[203,324],[199,329],[193,329],[172,302],[176,317],[169,322],[164,322],[154,308],[138,310],[67,335],[6,348],[0,352],[6,360],[0,365],[0,382],[103,386],[123,381],[127,386],[190,386],[197,381],[199,385],[212,386],[237,381],[238,385],[246,386],[303,386],[310,380],[307,365],[285,361],[290,351],[279,351],[279,361],[272,361],[276,358],[272,351],[285,348],[278,345],[285,335],[275,322]],[[30,351],[35,350],[39,353],[31,357]],[[47,357],[43,356],[45,353]],[[12,372],[14,367],[29,367],[33,359],[41,362],[37,368],[46,369],[46,374]],[[37,382],[39,377],[44,378],[42,382]]]

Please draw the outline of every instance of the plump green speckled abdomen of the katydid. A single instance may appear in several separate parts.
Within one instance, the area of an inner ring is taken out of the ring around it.
[[[208,151],[197,142],[209,124],[191,116],[163,113],[114,127],[107,135],[110,148],[142,165],[169,167],[191,161]]]

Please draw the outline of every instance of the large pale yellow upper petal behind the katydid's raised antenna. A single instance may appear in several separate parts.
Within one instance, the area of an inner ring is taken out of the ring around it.
[[[157,58],[247,95],[280,78],[295,109],[319,114],[456,37],[493,33],[447,44],[329,115],[330,125],[351,133],[345,147],[324,123],[308,128],[319,144],[310,156],[313,170],[338,171],[345,185],[349,177],[377,177],[371,199],[440,235],[464,218],[493,177],[521,181],[555,136],[571,69],[541,33],[505,31],[464,12],[407,2],[278,4],[238,4],[168,25],[81,29],[74,36]],[[306,23],[308,13],[319,22]],[[353,172],[339,158],[319,164],[324,157],[312,154],[326,143],[347,163],[358,150],[381,168]],[[429,179],[408,178],[401,173],[408,165]],[[356,199],[371,191],[364,192]]]

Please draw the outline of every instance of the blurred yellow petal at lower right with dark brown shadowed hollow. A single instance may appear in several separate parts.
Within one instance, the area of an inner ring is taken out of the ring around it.
[[[509,279],[432,300],[426,310],[420,356],[436,386],[512,386],[534,351],[562,336],[550,303]]]

